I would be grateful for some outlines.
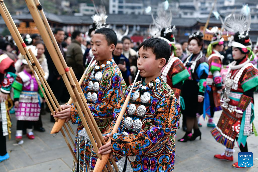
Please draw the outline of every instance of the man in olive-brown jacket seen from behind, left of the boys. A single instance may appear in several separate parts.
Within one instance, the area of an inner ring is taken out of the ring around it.
[[[83,72],[83,54],[81,49],[82,32],[75,30],[72,33],[72,43],[66,53],[66,63],[74,70],[77,80],[80,80]]]

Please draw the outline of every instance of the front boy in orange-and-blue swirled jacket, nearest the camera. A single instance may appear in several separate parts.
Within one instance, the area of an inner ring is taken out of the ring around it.
[[[99,149],[101,154],[114,155],[121,172],[174,169],[180,106],[160,74],[170,54],[169,44],[160,38],[147,39],[139,47],[137,66],[142,80],[134,85],[118,133],[110,134],[125,98],[114,109],[115,121],[105,133],[111,141]]]

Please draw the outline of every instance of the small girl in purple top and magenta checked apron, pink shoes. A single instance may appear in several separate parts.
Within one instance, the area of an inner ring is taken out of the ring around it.
[[[15,140],[17,143],[22,140],[23,126],[27,127],[27,137],[34,139],[32,132],[33,122],[38,121],[40,114],[39,94],[43,94],[38,87],[29,65],[25,59],[22,60],[24,70],[18,73],[18,77],[13,83],[15,116],[17,119],[17,130]]]

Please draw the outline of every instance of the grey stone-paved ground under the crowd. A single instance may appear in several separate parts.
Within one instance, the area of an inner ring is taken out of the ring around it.
[[[255,95],[255,103],[258,103],[258,94]],[[258,106],[255,106],[256,119],[255,126],[258,129]],[[219,120],[220,112],[215,113],[215,121]],[[24,143],[21,146],[14,146],[16,121],[14,115],[12,138],[7,141],[7,150],[10,159],[0,163],[0,172],[69,172],[72,166],[72,157],[67,145],[62,138],[61,133],[52,136],[50,133],[53,123],[49,122],[49,114],[42,116],[43,124],[46,129],[45,133],[35,131],[35,139],[28,140],[24,136]],[[224,151],[224,147],[213,139],[209,133],[210,128],[206,127],[206,121],[201,119],[203,127],[201,140],[187,143],[176,142],[176,172],[183,171],[236,171],[231,167],[231,162],[218,161],[213,158],[214,154],[220,154]],[[72,128],[76,129],[75,125]],[[183,137],[184,132],[179,129],[177,139]],[[254,135],[248,137],[248,150],[253,152],[254,166],[248,169],[239,169],[237,171],[258,171],[258,137]],[[234,162],[237,161],[237,153],[239,148],[235,147]]]

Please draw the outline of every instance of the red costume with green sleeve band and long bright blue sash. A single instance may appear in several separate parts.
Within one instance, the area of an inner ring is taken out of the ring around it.
[[[211,116],[210,112],[210,97],[213,97],[214,101],[214,109],[213,111],[221,110],[220,107],[220,93],[217,93],[217,90],[222,89],[222,77],[221,77],[221,68],[222,68],[222,60],[224,56],[221,55],[216,50],[212,51],[212,54],[208,57],[208,65],[209,65],[209,73],[206,79],[206,90],[205,99],[204,99],[204,117],[207,114],[209,117]],[[213,90],[213,94],[209,94]]]

